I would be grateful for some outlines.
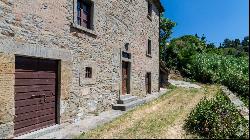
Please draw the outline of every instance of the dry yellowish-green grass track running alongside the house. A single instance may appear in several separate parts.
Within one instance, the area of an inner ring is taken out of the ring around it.
[[[183,130],[184,120],[203,97],[211,98],[218,91],[216,85],[202,85],[202,89],[174,88],[78,139],[195,138]]]

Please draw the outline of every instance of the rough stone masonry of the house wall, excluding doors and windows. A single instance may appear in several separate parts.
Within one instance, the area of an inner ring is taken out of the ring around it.
[[[93,29],[77,26],[77,0],[0,0],[0,138],[14,136],[15,56],[59,61],[59,122],[111,109],[122,84],[121,51],[131,53],[130,93],[159,90],[158,0],[91,0]],[[151,56],[146,55],[148,39]],[[85,78],[85,68],[92,77]]]

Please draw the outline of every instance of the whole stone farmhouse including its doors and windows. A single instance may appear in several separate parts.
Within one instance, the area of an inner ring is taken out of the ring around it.
[[[0,0],[0,138],[158,92],[163,11],[160,0]]]

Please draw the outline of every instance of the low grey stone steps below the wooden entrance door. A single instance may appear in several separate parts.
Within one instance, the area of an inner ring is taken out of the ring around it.
[[[126,111],[128,109],[132,109],[138,105],[141,105],[141,104],[144,104],[145,103],[145,100],[143,99],[137,99],[135,101],[132,101],[132,102],[129,102],[129,103],[126,103],[126,104],[115,104],[115,105],[112,105],[112,108],[114,110],[121,110],[121,111]]]

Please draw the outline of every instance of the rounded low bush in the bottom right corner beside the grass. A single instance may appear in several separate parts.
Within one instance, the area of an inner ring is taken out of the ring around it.
[[[230,100],[218,93],[214,99],[203,99],[185,120],[185,129],[203,138],[249,138],[248,121]]]

